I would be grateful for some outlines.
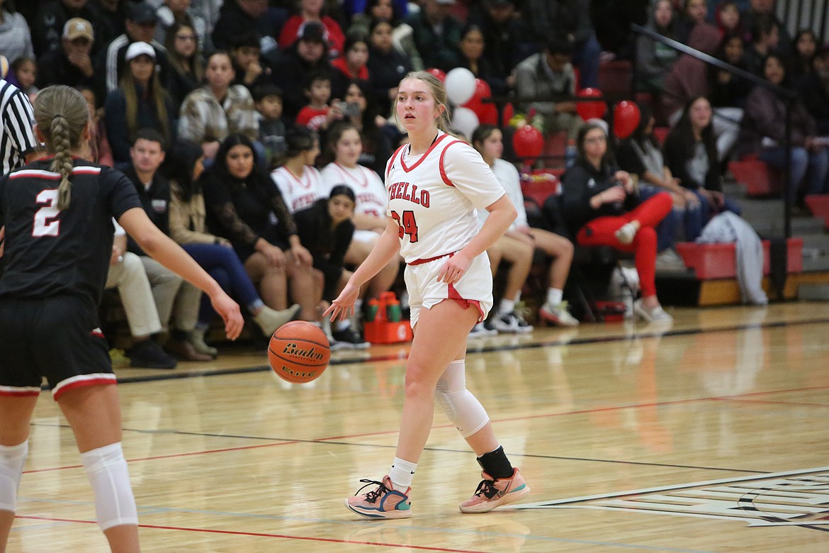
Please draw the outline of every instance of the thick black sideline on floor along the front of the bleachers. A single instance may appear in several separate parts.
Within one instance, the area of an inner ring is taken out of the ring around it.
[[[635,340],[638,338],[649,338],[649,337],[673,337],[673,336],[686,336],[691,334],[705,334],[710,332],[734,332],[739,330],[749,330],[751,328],[778,328],[778,327],[788,327],[788,326],[796,326],[802,324],[823,324],[829,323],[829,318],[815,318],[815,319],[803,319],[797,321],[774,321],[772,323],[744,323],[744,324],[735,324],[725,327],[715,327],[715,328],[685,328],[681,330],[668,330],[665,332],[637,332],[635,334],[624,334],[618,336],[606,336],[606,337],[584,337],[584,338],[572,338],[568,340],[561,340],[561,339],[552,339],[552,340],[543,340],[541,342],[524,342],[518,344],[500,344],[500,345],[492,345],[487,347],[478,347],[478,348],[470,348],[468,349],[468,353],[490,353],[490,352],[509,352],[519,349],[536,349],[540,347],[555,347],[555,346],[580,346],[580,345],[587,345],[587,344],[594,344],[594,343],[607,343],[607,342],[627,342],[630,340]],[[264,357],[264,352],[263,352]],[[366,358],[361,359],[332,359],[329,361],[329,365],[354,365],[359,363],[376,363],[380,361],[403,361],[403,358],[400,357],[399,354],[379,354],[376,356],[369,356]],[[153,382],[153,381],[167,381],[167,380],[181,380],[184,378],[199,378],[201,376],[227,376],[227,375],[241,375],[247,374],[251,372],[264,372],[270,371],[270,366],[264,365],[257,365],[257,366],[245,366],[239,367],[235,369],[206,369],[203,371],[182,371],[182,372],[164,372],[159,374],[153,375],[143,375],[143,376],[119,376],[118,383],[119,384],[135,384],[138,382]],[[46,386],[43,386],[43,390],[47,390]]]

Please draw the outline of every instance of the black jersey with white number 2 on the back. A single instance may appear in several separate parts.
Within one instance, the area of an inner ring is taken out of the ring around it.
[[[141,209],[141,202],[124,173],[75,159],[70,206],[58,211],[61,175],[51,163],[36,161],[0,178],[0,298],[73,294],[97,308],[112,255],[112,218]]]

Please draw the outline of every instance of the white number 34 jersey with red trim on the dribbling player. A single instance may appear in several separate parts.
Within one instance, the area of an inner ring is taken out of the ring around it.
[[[481,154],[442,132],[422,156],[410,156],[408,144],[398,148],[386,163],[385,189],[409,264],[462,249],[478,234],[475,210],[504,195]]]

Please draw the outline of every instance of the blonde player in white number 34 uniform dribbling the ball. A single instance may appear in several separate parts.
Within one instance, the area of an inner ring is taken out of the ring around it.
[[[386,166],[388,223],[326,314],[347,317],[361,285],[400,253],[407,264],[414,342],[390,473],[380,482],[367,480],[363,488],[370,491],[345,503],[367,518],[410,517],[410,486],[437,403],[483,468],[482,482],[460,510],[487,512],[530,492],[498,444],[487,412],[466,389],[464,376],[468,333],[492,308],[486,250],[515,220],[516,208],[480,154],[446,133],[446,91],[437,78],[423,71],[406,75],[395,111],[410,143]],[[476,209],[489,211],[480,230]]]

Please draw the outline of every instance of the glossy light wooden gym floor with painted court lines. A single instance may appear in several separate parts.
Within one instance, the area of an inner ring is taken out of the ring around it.
[[[829,304],[676,308],[470,345],[482,400],[532,493],[463,515],[478,465],[440,413],[414,516],[342,507],[394,454],[407,346],[276,381],[227,347],[119,370],[144,551],[829,551]],[[9,551],[106,551],[65,421],[44,394]]]

